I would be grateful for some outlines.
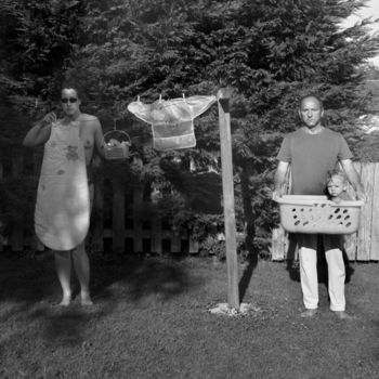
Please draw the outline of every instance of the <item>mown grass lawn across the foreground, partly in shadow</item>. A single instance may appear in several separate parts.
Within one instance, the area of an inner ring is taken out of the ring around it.
[[[302,311],[286,263],[240,265],[245,316],[226,302],[226,265],[204,258],[92,258],[95,305],[55,304],[52,257],[0,254],[0,378],[379,378],[378,264],[352,264],[353,321]]]

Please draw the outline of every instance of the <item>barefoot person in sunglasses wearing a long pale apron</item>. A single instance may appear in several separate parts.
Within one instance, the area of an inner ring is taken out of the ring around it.
[[[38,186],[35,227],[41,241],[54,252],[62,286],[60,305],[71,301],[71,259],[80,283],[82,305],[92,305],[90,264],[84,248],[93,197],[91,162],[103,157],[103,131],[99,119],[80,112],[78,90],[63,88],[63,118],[47,114],[25,136],[24,146],[44,145]]]

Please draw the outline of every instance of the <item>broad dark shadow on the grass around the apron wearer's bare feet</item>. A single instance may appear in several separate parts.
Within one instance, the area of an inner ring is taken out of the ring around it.
[[[65,309],[55,305],[61,300],[61,288],[52,256],[37,260],[0,254],[0,321],[13,317],[21,325],[39,325],[47,340],[77,345],[82,343],[91,319],[112,314],[120,301],[134,302],[149,295],[167,301],[201,285],[190,277],[185,262],[179,260],[92,257],[90,261],[95,305],[82,308],[75,299]],[[78,288],[75,275],[73,288]],[[18,334],[15,330],[10,338],[17,339]]]

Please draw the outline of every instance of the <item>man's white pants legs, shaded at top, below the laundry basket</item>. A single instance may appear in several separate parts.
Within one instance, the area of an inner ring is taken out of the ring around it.
[[[323,236],[325,257],[328,264],[328,291],[331,311],[344,311],[345,269],[339,236]],[[300,282],[304,306],[318,306],[317,235],[299,235]]]

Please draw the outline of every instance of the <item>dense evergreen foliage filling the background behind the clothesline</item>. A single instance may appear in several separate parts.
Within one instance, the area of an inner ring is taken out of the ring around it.
[[[237,223],[261,249],[277,222],[270,200],[274,157],[284,133],[298,125],[297,101],[317,92],[327,125],[351,143],[358,136],[354,120],[370,102],[361,67],[376,54],[379,38],[366,34],[368,21],[344,30],[339,23],[364,3],[8,0],[0,34],[10,43],[1,49],[1,80],[17,99],[51,99],[58,79],[75,82],[83,90],[86,112],[96,114],[105,130],[117,121],[132,139],[142,165],[115,167],[113,173],[127,170],[132,181],[162,190],[161,211],[170,214],[172,207],[171,220],[195,234],[214,218],[222,223],[222,209],[198,211],[205,210],[201,196],[222,196],[218,180],[202,180],[217,178],[208,171],[220,172],[217,107],[195,120],[196,148],[157,153],[148,126],[127,105],[138,96],[151,103],[159,95],[215,94],[230,87]]]

